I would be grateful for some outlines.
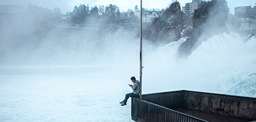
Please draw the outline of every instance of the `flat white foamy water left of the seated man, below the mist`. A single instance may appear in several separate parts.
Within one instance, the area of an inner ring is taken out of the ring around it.
[[[131,121],[130,104],[119,105],[130,89],[111,73],[45,75],[51,69],[36,67],[41,75],[1,75],[0,121]]]

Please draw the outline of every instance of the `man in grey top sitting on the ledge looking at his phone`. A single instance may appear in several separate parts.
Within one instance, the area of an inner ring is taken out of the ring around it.
[[[128,84],[128,85],[130,86],[130,88],[133,89],[133,92],[132,93],[127,93],[126,98],[124,98],[123,101],[119,102],[121,104],[121,106],[127,105],[126,102],[127,102],[129,97],[139,97],[140,82],[138,80],[136,80],[135,77],[130,77],[130,80],[133,82],[133,85],[132,84]]]

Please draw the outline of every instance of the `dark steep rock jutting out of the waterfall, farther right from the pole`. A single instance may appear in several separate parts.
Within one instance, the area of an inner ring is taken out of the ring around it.
[[[179,47],[180,56],[189,56],[202,41],[215,34],[229,33],[226,25],[228,13],[224,0],[203,2],[201,8],[194,12],[190,39]]]

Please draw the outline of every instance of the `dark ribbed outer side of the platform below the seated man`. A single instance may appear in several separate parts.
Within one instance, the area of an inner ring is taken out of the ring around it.
[[[194,116],[177,112],[173,109],[156,105],[140,98],[132,98],[132,119],[133,121],[144,122],[207,122]]]

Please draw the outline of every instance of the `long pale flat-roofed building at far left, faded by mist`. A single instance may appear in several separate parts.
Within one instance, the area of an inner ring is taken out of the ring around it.
[[[0,13],[24,13],[24,6],[0,5]]]

